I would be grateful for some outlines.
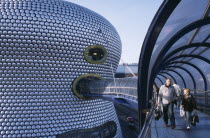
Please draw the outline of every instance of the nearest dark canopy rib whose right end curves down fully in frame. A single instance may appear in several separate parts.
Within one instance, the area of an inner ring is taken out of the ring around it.
[[[170,62],[170,63],[166,64],[166,66],[167,66],[167,65],[171,65],[171,64],[176,64],[176,63],[186,64],[186,65],[189,65],[189,66],[195,68],[195,69],[200,73],[200,75],[201,75],[202,78],[203,78],[204,86],[205,86],[205,91],[208,90],[207,79],[206,79],[206,77],[205,77],[203,71],[202,71],[199,67],[195,66],[194,64],[192,64],[192,63],[190,63],[190,62],[186,62],[186,61],[173,61],[173,62]]]

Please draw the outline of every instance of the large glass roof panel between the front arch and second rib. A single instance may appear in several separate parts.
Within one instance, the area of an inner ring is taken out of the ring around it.
[[[201,19],[207,5],[208,0],[195,0],[193,3],[192,0],[184,0],[179,3],[173,13],[170,15],[158,37],[155,50],[152,54],[150,67],[152,67],[154,64],[154,61],[159,55],[159,52],[162,50],[163,46],[168,42],[168,40],[170,40],[171,37],[173,37],[173,35],[175,35],[179,30],[188,24]]]

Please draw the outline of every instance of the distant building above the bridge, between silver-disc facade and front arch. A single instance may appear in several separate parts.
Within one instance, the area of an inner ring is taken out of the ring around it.
[[[138,63],[119,64],[115,73],[116,78],[133,77],[138,75]]]

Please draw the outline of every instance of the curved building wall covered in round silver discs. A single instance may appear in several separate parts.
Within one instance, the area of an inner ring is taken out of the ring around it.
[[[120,55],[115,28],[95,12],[60,0],[1,0],[0,137],[55,137],[108,121],[121,129],[113,103],[81,100],[72,82],[82,74],[111,78]],[[103,64],[84,59],[102,45]]]

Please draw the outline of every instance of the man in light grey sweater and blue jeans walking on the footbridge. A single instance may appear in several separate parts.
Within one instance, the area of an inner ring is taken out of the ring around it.
[[[174,101],[176,100],[176,91],[171,84],[171,79],[166,79],[166,84],[162,85],[159,90],[158,105],[163,105],[164,126],[168,127],[168,119],[170,119],[171,128],[175,128],[174,117]]]

